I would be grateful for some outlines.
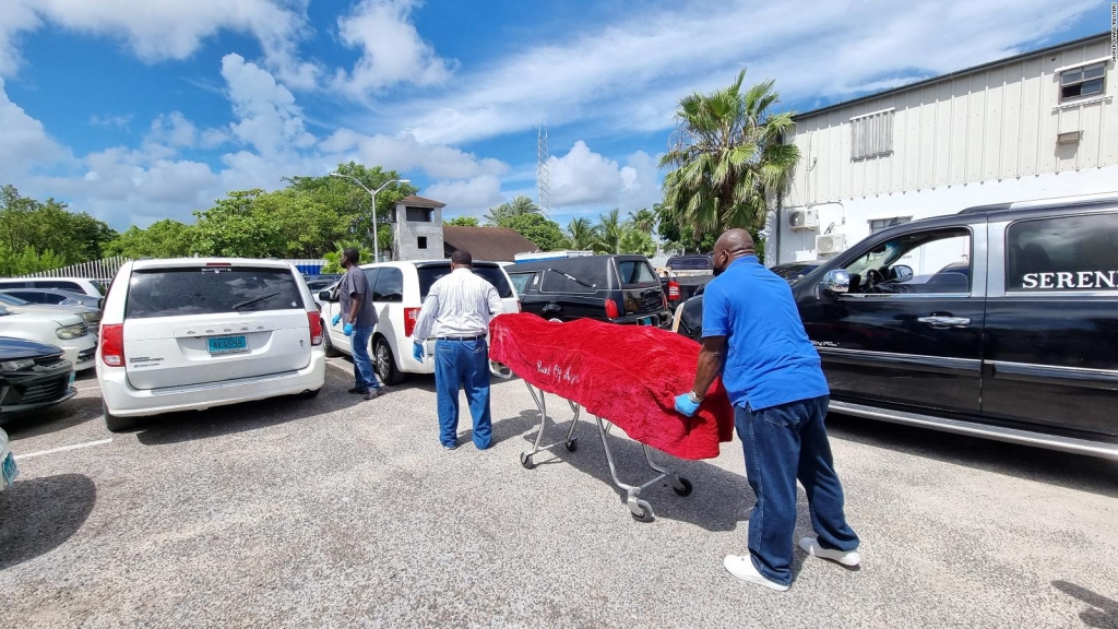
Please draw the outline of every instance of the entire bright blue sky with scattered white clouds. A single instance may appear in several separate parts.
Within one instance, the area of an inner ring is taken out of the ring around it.
[[[357,160],[480,216],[660,199],[679,98],[775,78],[805,111],[1084,35],[1093,0],[0,0],[0,184],[117,229]]]

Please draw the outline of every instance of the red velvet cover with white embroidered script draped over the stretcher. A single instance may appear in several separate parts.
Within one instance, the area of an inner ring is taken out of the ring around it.
[[[718,457],[719,442],[733,438],[733,409],[721,381],[693,417],[675,411],[675,396],[694,384],[699,344],[667,330],[502,314],[490,323],[490,359],[681,459]]]

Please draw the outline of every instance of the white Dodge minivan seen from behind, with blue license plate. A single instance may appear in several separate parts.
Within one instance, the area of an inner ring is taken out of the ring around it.
[[[319,310],[291,263],[140,260],[105,298],[97,383],[111,431],[143,415],[312,397],[324,382]]]

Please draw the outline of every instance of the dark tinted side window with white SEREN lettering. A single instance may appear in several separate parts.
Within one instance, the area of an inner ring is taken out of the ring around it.
[[[1018,220],[1005,257],[1010,291],[1118,290],[1118,213]]]

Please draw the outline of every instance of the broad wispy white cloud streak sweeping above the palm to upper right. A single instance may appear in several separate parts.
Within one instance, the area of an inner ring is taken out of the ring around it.
[[[776,77],[785,101],[850,96],[882,77],[911,79],[1013,54],[1065,28],[1096,0],[695,1],[587,26],[458,75],[452,88],[391,112],[428,142],[456,143],[582,122],[606,132],[672,125],[679,98],[730,83]],[[788,19],[796,16],[796,19]]]

